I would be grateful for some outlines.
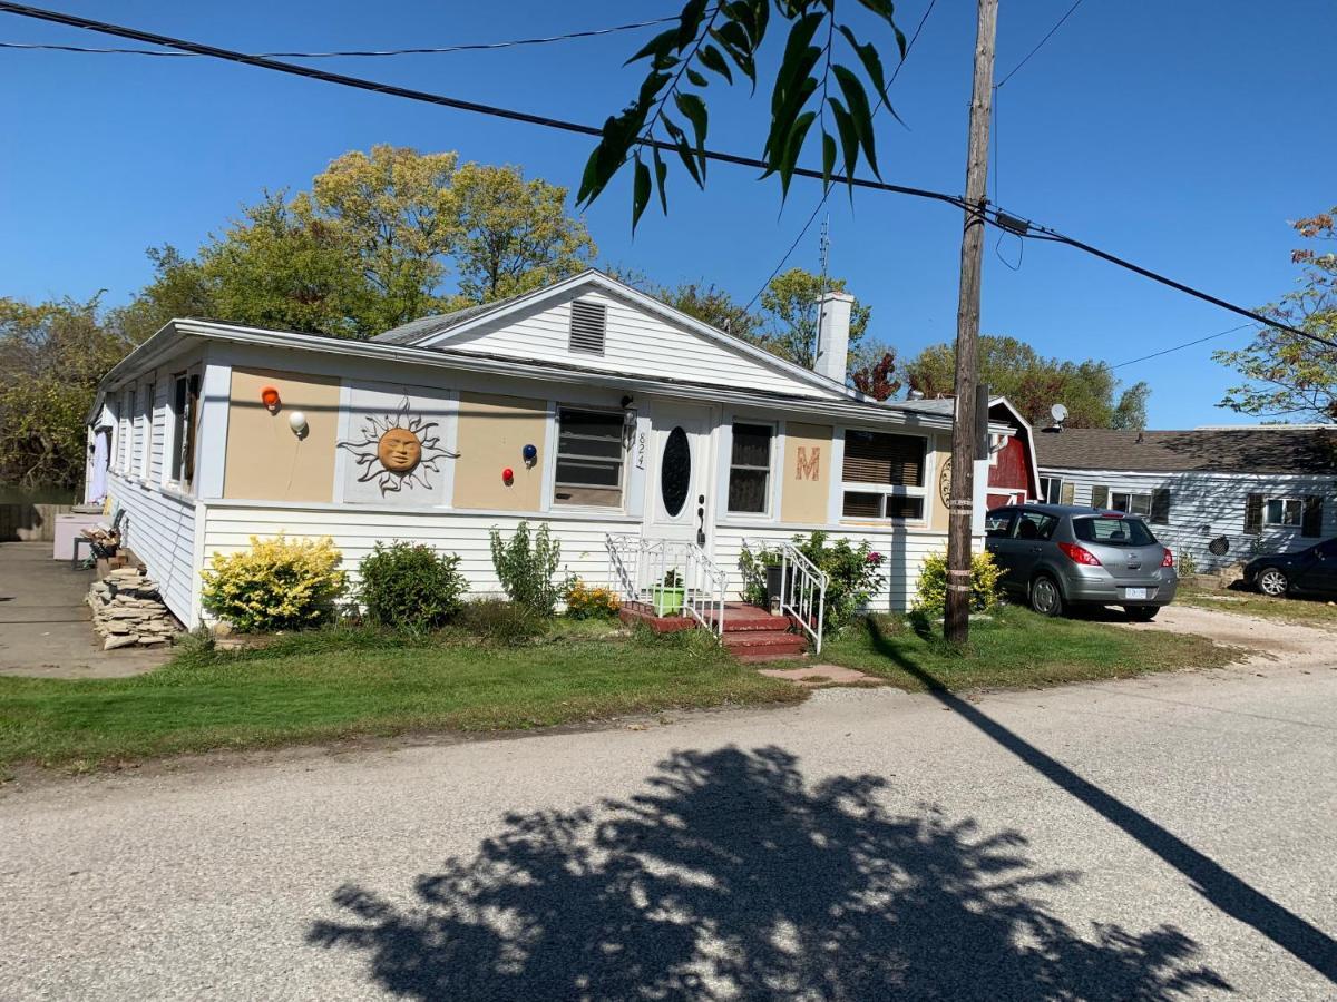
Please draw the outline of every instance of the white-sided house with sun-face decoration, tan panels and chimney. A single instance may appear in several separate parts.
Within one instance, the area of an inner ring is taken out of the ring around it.
[[[201,570],[251,536],[332,536],[354,581],[376,542],[424,542],[487,595],[489,529],[520,521],[588,582],[643,589],[667,541],[729,599],[745,540],[824,529],[888,557],[900,609],[945,546],[952,418],[845,386],[852,302],[825,297],[816,371],[592,270],[369,342],[176,319],[103,379],[88,482],[191,627]]]

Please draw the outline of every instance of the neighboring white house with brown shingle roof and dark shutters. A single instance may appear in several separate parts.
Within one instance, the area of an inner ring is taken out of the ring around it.
[[[1035,444],[1044,500],[1146,516],[1201,570],[1337,536],[1330,425],[1048,428]]]

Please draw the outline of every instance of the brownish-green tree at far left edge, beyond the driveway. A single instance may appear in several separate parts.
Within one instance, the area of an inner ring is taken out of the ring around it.
[[[87,302],[0,298],[0,480],[74,486],[98,381],[134,346]]]

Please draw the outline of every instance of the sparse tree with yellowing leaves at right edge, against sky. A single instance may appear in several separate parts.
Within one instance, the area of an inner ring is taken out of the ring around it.
[[[1306,240],[1337,240],[1337,206],[1290,226]],[[1337,253],[1301,247],[1298,287],[1262,313],[1328,342],[1337,341]],[[1213,354],[1245,382],[1231,386],[1219,406],[1243,414],[1337,422],[1337,349],[1277,327],[1265,327],[1246,347]]]

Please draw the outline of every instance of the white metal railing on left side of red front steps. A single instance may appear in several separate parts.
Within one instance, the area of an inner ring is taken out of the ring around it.
[[[729,574],[695,542],[608,533],[604,548],[608,587],[616,588],[623,601],[646,603],[660,612],[667,592],[677,611],[673,589],[681,588],[682,612],[715,636],[723,635]]]

